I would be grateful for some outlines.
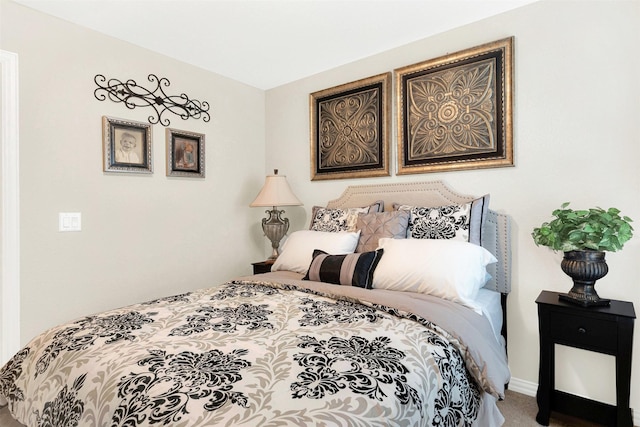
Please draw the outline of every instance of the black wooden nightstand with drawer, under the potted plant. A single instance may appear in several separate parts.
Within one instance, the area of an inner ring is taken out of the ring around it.
[[[536,421],[549,425],[551,411],[607,426],[632,427],[629,408],[633,303],[611,300],[608,307],[581,307],[542,291],[538,304],[540,370]],[[608,405],[555,389],[555,344],[610,354],[616,358],[616,404]]]

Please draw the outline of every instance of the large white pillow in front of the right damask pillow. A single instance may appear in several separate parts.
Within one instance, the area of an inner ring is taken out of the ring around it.
[[[384,256],[373,275],[374,289],[419,292],[479,310],[474,299],[497,259],[482,246],[459,240],[379,240]]]

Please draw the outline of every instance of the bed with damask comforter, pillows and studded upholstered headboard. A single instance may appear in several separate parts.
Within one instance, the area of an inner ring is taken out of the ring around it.
[[[348,187],[269,273],[35,337],[0,369],[0,405],[28,426],[501,425],[509,219],[488,202]]]

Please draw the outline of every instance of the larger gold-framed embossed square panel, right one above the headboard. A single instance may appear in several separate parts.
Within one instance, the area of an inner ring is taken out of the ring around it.
[[[395,70],[398,174],[513,166],[513,37]]]

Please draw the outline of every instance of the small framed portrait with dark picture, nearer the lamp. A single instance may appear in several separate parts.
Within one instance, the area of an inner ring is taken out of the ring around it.
[[[167,129],[167,176],[204,178],[204,135]]]

